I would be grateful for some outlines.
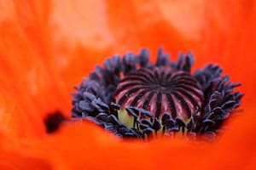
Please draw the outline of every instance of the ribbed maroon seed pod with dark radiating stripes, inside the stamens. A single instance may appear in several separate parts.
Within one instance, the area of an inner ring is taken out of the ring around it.
[[[133,71],[119,82],[114,98],[122,108],[134,106],[157,118],[165,112],[189,119],[200,111],[203,93],[188,72],[167,66]]]

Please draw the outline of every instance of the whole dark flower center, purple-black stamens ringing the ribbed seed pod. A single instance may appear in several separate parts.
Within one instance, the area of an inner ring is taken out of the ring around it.
[[[192,54],[172,61],[160,48],[127,53],[97,65],[73,94],[73,117],[95,122],[119,138],[160,135],[215,139],[243,94],[218,65],[191,72]]]

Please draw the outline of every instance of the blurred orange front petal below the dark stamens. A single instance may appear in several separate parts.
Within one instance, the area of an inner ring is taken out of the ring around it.
[[[121,142],[92,123],[69,125],[49,139],[26,144],[28,152],[45,160],[58,156],[71,169],[241,169],[256,165],[253,112],[236,117],[220,139],[208,144],[182,139]]]

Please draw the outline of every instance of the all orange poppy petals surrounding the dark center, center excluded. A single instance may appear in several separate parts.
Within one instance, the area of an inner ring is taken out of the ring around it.
[[[253,169],[256,161],[253,1],[44,1],[0,7],[0,169]],[[241,115],[219,139],[123,141],[92,122],[66,122],[46,133],[44,120],[71,116],[72,93],[106,56],[193,51],[195,68],[217,63],[245,94]]]

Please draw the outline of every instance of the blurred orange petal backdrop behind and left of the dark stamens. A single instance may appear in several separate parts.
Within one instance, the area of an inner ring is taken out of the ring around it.
[[[92,65],[115,52],[137,51],[142,46],[155,52],[163,44],[173,54],[192,49],[197,66],[210,61],[223,65],[232,80],[243,83],[246,105],[255,101],[256,81],[247,78],[255,72],[253,1],[188,4],[67,0],[0,5],[0,82],[3,100],[11,99],[2,113],[15,108],[12,116],[1,114],[1,126],[15,135],[42,135],[46,114],[56,109],[69,114],[68,93]],[[178,11],[183,15],[174,17]],[[91,17],[94,15],[97,21]]]

